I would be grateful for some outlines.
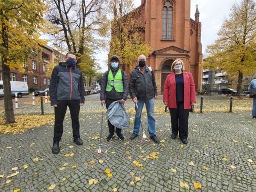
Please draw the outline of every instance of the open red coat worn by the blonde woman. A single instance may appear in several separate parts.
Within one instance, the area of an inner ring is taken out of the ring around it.
[[[191,109],[191,103],[196,102],[196,89],[191,73],[183,71],[184,81],[184,109]],[[166,77],[164,83],[164,102],[167,107],[177,108],[175,74],[171,73]]]

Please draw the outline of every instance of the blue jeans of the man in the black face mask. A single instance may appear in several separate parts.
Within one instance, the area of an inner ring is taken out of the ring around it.
[[[154,118],[154,98],[153,99],[138,99],[137,101],[137,105],[139,108],[139,111],[137,109],[137,107],[135,106],[135,119],[134,119],[134,129],[133,132],[135,134],[139,134],[140,132],[140,118],[141,118],[141,113],[142,113],[142,108],[143,105],[146,105],[146,109],[147,109],[147,116],[148,116],[148,132],[150,136],[153,136],[156,134],[156,120]],[[139,113],[138,113],[139,112]],[[140,115],[140,116],[139,116]],[[145,128],[144,128],[145,131]]]

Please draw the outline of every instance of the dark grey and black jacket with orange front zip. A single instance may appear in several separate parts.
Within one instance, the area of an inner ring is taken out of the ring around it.
[[[66,62],[60,62],[52,70],[49,92],[51,105],[58,105],[58,100],[80,100],[84,103],[82,72],[68,67]]]

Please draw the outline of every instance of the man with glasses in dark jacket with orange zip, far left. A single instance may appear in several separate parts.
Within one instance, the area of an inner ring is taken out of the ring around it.
[[[76,69],[76,55],[66,54],[66,62],[59,63],[52,71],[50,81],[50,100],[54,107],[54,136],[52,153],[60,153],[59,142],[63,133],[63,120],[70,110],[74,142],[83,145],[79,134],[79,110],[84,105],[84,83],[80,70]]]

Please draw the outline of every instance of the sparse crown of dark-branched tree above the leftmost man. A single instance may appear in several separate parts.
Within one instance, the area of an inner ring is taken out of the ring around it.
[[[47,0],[49,20],[57,29],[55,41],[65,42],[68,51],[77,55],[77,62],[104,46],[97,37],[105,36],[108,29],[107,0]],[[85,55],[84,55],[85,54]],[[86,62],[86,61],[85,61]]]

